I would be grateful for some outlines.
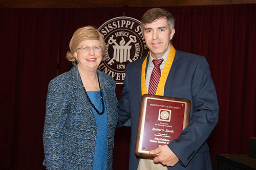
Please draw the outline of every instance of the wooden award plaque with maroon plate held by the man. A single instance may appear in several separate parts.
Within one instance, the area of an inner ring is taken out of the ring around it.
[[[190,105],[187,99],[143,94],[135,154],[154,158],[149,151],[177,139],[189,123]]]

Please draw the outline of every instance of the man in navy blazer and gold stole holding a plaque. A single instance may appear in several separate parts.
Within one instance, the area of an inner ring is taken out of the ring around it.
[[[132,123],[129,169],[212,169],[205,141],[218,122],[219,107],[206,59],[175,50],[171,43],[174,18],[163,9],[148,10],[141,19],[141,30],[150,53],[127,65],[118,102],[118,127],[129,118]],[[159,82],[153,94],[188,99],[191,109],[190,122],[180,136],[150,151],[152,155],[159,154],[153,162],[136,156],[135,145],[141,96],[152,93],[154,59],[163,59],[160,70],[164,81]]]

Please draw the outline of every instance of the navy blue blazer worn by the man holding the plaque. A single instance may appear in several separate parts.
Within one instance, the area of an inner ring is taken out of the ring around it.
[[[145,57],[127,65],[124,87],[118,102],[118,127],[131,118],[129,169],[134,170],[140,159],[135,155],[135,144],[141,101],[141,67],[144,60]],[[176,50],[165,83],[164,96],[188,99],[191,102],[189,125],[177,139],[168,144],[179,158],[179,163],[168,169],[211,169],[206,139],[218,122],[219,106],[206,59]]]

